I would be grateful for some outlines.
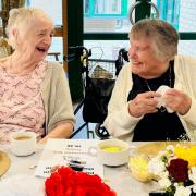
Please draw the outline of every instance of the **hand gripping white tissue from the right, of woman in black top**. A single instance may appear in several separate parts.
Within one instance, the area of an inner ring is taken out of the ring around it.
[[[185,93],[176,90],[176,89],[169,89],[164,94],[166,105],[172,109],[173,111],[184,115],[188,112],[192,99]]]

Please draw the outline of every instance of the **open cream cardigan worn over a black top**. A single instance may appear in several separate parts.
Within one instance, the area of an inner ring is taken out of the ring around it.
[[[103,123],[110,135],[123,140],[132,140],[133,130],[142,119],[128,113],[127,96],[133,86],[131,69],[131,63],[122,68],[108,105],[108,117]],[[191,140],[196,140],[196,58],[176,56],[174,73],[174,88],[192,98],[189,111],[179,117]],[[148,132],[147,128],[146,132]]]

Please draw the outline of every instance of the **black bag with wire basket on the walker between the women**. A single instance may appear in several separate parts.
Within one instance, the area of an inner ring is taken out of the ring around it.
[[[83,119],[102,123],[108,113],[108,102],[115,82],[114,60],[88,60],[85,75]]]

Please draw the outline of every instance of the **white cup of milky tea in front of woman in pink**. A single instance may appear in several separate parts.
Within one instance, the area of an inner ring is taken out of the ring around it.
[[[28,156],[35,152],[36,134],[34,132],[15,132],[11,136],[11,151],[16,156]]]

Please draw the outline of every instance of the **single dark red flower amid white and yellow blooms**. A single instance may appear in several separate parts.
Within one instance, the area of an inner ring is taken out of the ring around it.
[[[175,182],[185,182],[188,180],[188,162],[183,159],[172,159],[168,171]]]

